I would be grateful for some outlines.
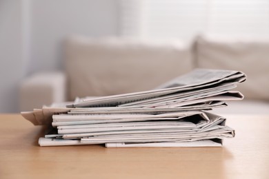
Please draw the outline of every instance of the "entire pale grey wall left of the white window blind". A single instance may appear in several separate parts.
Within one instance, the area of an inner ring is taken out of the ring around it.
[[[117,0],[0,0],[0,112],[19,112],[22,78],[61,70],[66,36],[118,34]]]

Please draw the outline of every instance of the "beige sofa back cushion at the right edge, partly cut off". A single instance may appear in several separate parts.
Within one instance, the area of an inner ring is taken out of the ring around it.
[[[238,90],[248,99],[269,100],[269,41],[200,36],[195,53],[198,67],[245,72],[247,81]]]

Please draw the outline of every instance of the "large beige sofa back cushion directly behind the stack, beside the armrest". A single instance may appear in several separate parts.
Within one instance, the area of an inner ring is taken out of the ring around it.
[[[192,70],[189,48],[180,41],[72,37],[66,45],[69,100],[152,89]]]

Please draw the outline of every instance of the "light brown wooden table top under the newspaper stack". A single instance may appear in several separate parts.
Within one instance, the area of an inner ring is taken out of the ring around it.
[[[39,147],[45,128],[0,115],[0,178],[269,178],[269,116],[228,116],[223,147]]]

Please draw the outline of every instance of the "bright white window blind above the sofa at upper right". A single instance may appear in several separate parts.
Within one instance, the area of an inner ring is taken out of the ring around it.
[[[269,0],[122,0],[120,21],[121,35],[141,38],[269,36]]]

